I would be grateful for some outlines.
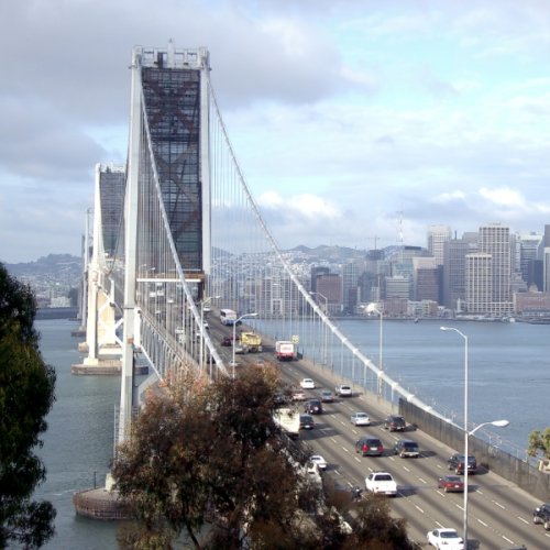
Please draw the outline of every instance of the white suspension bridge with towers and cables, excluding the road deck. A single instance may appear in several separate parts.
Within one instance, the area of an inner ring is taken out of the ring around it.
[[[127,164],[96,166],[84,243],[87,356],[73,367],[121,374],[118,442],[139,405],[138,358],[153,372],[143,386],[188,371],[234,374],[205,328],[207,306],[250,317],[272,341],[299,342],[314,364],[377,397],[431,409],[340,331],[309,273],[277,245],[233,152],[208,51],[135,47],[131,75]]]

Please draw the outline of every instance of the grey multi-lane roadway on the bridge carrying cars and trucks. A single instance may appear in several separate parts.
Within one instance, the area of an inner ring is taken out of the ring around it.
[[[222,327],[213,316],[209,318],[215,341],[230,336],[231,328]],[[222,349],[230,361],[231,348]],[[307,360],[278,363],[273,346],[265,345],[261,354],[238,355],[249,362],[262,358],[279,366],[283,378],[298,386],[304,377],[316,382],[316,389],[306,391],[308,397],[318,397],[321,389],[334,391],[342,381],[327,370],[314,366]],[[242,358],[242,359],[241,359]],[[302,407],[302,404],[298,404]],[[302,431],[300,438],[310,444],[316,453],[322,454],[329,466],[324,475],[332,475],[342,486],[359,485],[364,488],[364,479],[370,472],[391,472],[398,485],[398,496],[391,501],[393,514],[406,518],[407,532],[411,540],[426,543],[426,534],[437,527],[452,527],[459,534],[463,525],[463,494],[444,493],[438,488],[438,477],[449,472],[447,459],[455,452],[430,436],[408,428],[404,433],[383,429],[384,418],[389,413],[386,402],[377,403],[371,394],[358,392],[351,398],[337,398],[326,404],[324,413],[316,416],[316,428]],[[350,415],[364,411],[372,425],[355,427]],[[383,457],[361,457],[355,453],[354,443],[362,435],[373,435],[382,440]],[[415,440],[421,451],[418,459],[400,459],[392,449],[398,439]],[[508,549],[525,544],[529,550],[550,548],[550,532],[532,524],[532,509],[540,504],[513,483],[492,473],[481,471],[469,477],[469,548]]]

